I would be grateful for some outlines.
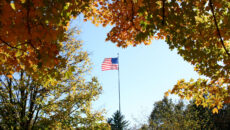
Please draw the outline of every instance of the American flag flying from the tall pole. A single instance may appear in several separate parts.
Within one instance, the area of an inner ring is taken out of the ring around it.
[[[118,70],[118,58],[105,58],[101,70]]]

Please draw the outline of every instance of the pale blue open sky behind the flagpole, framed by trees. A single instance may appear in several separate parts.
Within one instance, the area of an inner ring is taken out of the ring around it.
[[[184,61],[176,50],[171,51],[163,40],[153,40],[151,45],[119,48],[106,42],[112,28],[96,27],[83,22],[80,17],[72,25],[81,30],[79,40],[89,52],[93,63],[92,76],[96,76],[103,87],[99,99],[93,103],[94,110],[105,109],[105,117],[111,117],[119,109],[118,72],[101,71],[104,58],[117,57],[119,53],[121,112],[130,122],[130,127],[148,120],[153,104],[163,99],[164,93],[172,89],[180,79],[197,79],[193,66]],[[170,96],[174,101],[178,97]]]

